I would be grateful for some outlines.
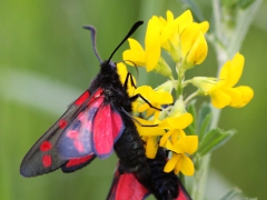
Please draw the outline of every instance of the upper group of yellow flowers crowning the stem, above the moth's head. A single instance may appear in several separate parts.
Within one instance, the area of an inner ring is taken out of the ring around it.
[[[189,69],[201,63],[207,56],[208,46],[204,34],[208,28],[207,21],[194,22],[189,10],[176,19],[171,11],[167,11],[167,19],[154,16],[148,22],[145,49],[137,40],[128,39],[130,49],[123,52],[123,60],[146,67],[148,72],[155,70],[172,78],[169,66],[160,57],[161,48],[175,62],[180,62],[184,68]]]

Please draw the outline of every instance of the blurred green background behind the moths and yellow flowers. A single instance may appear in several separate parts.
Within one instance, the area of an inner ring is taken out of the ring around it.
[[[155,3],[157,2],[157,3]],[[209,17],[210,3],[200,3]],[[1,0],[0,3],[0,199],[105,199],[117,159],[96,160],[71,174],[60,170],[37,178],[23,178],[19,167],[23,156],[37,139],[59,118],[90,83],[99,70],[90,34],[83,24],[97,30],[97,47],[107,59],[137,20],[152,14],[166,17],[182,12],[179,1],[88,1],[88,0]],[[255,98],[243,109],[226,108],[219,127],[235,128],[238,134],[212,154],[215,182],[207,193],[221,197],[231,186],[246,196],[267,197],[267,1],[260,7],[240,52],[246,58],[245,71],[238,84],[254,88]],[[135,33],[144,41],[146,26]],[[204,64],[191,76],[216,74],[215,53],[209,46]],[[115,54],[120,61],[125,44]],[[160,76],[139,71],[139,84],[157,86]],[[212,174],[214,174],[212,173]],[[211,174],[211,176],[212,176]],[[224,177],[230,184],[220,188]],[[211,177],[212,178],[212,177]],[[215,184],[217,184],[215,183]],[[228,188],[229,187],[229,188]],[[210,196],[211,199],[216,199]],[[208,198],[207,198],[208,199]]]

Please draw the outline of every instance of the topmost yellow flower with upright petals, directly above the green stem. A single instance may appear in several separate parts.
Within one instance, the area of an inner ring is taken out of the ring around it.
[[[162,48],[170,53],[174,61],[181,62],[182,68],[189,69],[205,60],[208,51],[204,37],[209,28],[207,21],[194,22],[189,10],[176,19],[171,11],[167,11],[167,20],[160,18],[160,21],[166,39],[161,40]]]

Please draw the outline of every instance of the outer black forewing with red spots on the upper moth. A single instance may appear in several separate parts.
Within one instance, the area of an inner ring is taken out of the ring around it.
[[[78,114],[79,110],[89,101],[86,90],[60,117],[60,119],[33,144],[20,166],[23,177],[34,177],[49,173],[65,166],[68,160],[60,158],[56,148],[57,141],[65,128]]]

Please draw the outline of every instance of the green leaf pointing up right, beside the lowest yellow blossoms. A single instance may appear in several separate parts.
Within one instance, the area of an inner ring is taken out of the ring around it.
[[[221,129],[212,129],[200,142],[198,153],[202,157],[206,153],[218,149],[225,144],[235,133],[236,131],[234,130],[222,131]]]

